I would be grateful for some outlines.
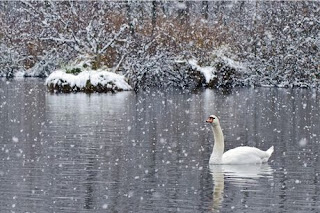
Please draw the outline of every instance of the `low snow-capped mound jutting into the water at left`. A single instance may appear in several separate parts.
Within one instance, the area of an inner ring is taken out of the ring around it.
[[[46,79],[50,91],[116,92],[132,90],[124,76],[108,71],[83,71],[78,75],[54,71]]]

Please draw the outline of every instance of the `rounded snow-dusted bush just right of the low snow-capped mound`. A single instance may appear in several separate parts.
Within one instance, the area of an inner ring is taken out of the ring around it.
[[[205,84],[205,77],[200,71],[168,53],[147,58],[128,57],[124,69],[135,90],[148,87],[194,89]]]

